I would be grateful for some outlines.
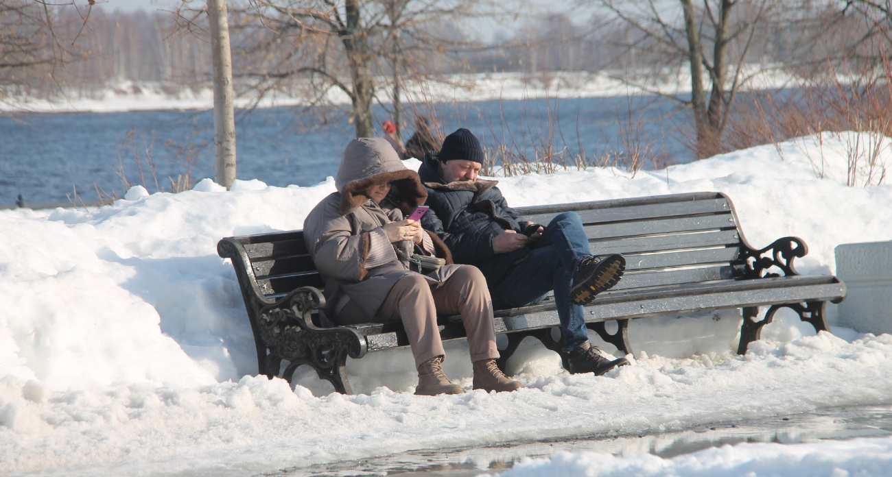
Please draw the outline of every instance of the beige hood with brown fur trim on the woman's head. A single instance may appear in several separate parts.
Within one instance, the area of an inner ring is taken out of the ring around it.
[[[368,201],[365,194],[376,182],[392,181],[387,198],[409,215],[427,199],[427,190],[412,169],[402,165],[400,156],[381,137],[353,139],[343,152],[341,166],[335,176],[335,187],[341,193],[341,214],[347,214]]]

